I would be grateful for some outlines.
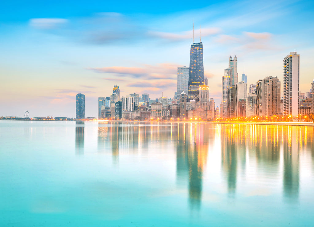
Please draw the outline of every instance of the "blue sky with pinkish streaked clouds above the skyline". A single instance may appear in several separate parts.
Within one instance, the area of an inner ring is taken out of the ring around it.
[[[300,91],[309,92],[313,12],[313,1],[4,1],[0,116],[75,117],[82,93],[85,116],[97,117],[98,97],[114,85],[120,97],[172,98],[177,67],[189,66],[193,23],[216,106],[230,55],[249,86],[266,76],[283,82],[283,59],[296,51]]]

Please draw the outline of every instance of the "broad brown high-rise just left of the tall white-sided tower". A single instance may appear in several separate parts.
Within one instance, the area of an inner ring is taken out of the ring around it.
[[[263,116],[273,116],[280,113],[280,81],[277,77],[263,79]]]

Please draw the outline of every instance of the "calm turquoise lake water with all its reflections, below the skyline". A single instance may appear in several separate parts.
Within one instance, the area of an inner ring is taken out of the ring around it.
[[[0,226],[313,226],[314,127],[0,121]]]

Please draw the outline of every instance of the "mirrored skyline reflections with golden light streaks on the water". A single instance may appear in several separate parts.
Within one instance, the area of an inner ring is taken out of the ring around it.
[[[84,127],[76,132],[77,144],[84,145]],[[174,147],[176,184],[188,190],[190,208],[200,209],[207,160],[217,153],[228,197],[236,198],[251,184],[257,189],[266,185],[270,192],[282,188],[282,197],[298,201],[300,153],[310,151],[314,159],[313,135],[314,127],[106,122],[98,124],[98,150],[111,152],[118,164],[121,152],[146,155],[153,150],[163,156]]]

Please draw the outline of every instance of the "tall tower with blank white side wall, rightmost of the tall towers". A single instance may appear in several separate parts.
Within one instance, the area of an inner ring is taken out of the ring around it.
[[[290,52],[284,58],[284,116],[299,115],[300,55]]]

